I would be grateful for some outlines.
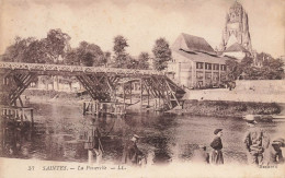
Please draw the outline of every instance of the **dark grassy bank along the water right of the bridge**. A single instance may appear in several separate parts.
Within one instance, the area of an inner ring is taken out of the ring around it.
[[[281,107],[275,103],[221,100],[185,100],[184,114],[197,116],[241,117],[244,115],[276,115]]]

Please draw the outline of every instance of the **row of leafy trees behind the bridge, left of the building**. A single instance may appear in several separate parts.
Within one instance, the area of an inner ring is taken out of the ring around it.
[[[110,51],[103,51],[100,46],[88,41],[81,41],[78,47],[70,47],[71,37],[61,29],[50,29],[42,39],[34,37],[15,37],[1,56],[2,61],[27,63],[53,63],[84,67],[113,67],[125,69],[149,69],[150,55],[140,52],[137,58],[132,57],[126,48],[127,39],[118,35],[114,38],[113,56]],[[160,37],[152,48],[152,66],[155,70],[167,68],[167,61],[171,60],[169,43]]]

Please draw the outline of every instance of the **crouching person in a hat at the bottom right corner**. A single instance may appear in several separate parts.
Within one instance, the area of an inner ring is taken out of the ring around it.
[[[281,147],[284,147],[284,139],[276,139],[271,146],[264,151],[263,165],[276,165],[284,163]]]

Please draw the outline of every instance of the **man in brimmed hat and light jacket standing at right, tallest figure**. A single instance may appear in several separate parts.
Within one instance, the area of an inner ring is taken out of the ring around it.
[[[270,138],[266,133],[256,127],[258,122],[253,115],[246,116],[249,129],[244,137],[244,144],[248,151],[248,164],[261,165],[263,161],[263,152],[269,147]]]

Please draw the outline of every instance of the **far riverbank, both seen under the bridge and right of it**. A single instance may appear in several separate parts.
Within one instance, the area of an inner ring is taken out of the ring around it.
[[[82,106],[83,100],[90,99],[88,95],[55,91],[27,90],[24,95],[32,103],[72,106]],[[132,106],[129,109],[137,110],[137,107],[139,105],[136,107]],[[195,116],[242,117],[244,115],[278,115],[281,110],[282,106],[276,103],[186,99],[183,109],[172,109],[168,112]]]

